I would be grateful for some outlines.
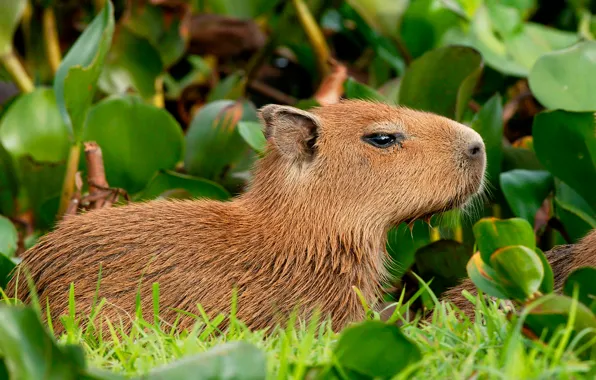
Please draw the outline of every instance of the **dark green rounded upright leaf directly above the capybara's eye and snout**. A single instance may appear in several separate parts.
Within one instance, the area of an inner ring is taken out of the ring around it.
[[[446,46],[431,50],[406,71],[399,103],[459,121],[482,68],[482,56],[472,48]]]

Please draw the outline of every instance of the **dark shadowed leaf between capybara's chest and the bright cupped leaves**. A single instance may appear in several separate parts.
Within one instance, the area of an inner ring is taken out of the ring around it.
[[[415,272],[425,281],[433,279],[430,288],[440,294],[467,277],[466,265],[472,254],[467,244],[438,240],[416,251]]]

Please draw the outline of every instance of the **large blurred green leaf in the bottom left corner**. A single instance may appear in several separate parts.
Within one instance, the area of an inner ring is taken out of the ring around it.
[[[10,378],[79,379],[79,359],[61,349],[31,308],[0,305],[0,351]],[[80,353],[82,355],[82,352]]]

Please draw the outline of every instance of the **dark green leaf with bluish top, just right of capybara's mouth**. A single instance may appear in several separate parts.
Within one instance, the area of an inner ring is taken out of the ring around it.
[[[501,173],[501,190],[509,207],[532,226],[536,212],[553,189],[553,177],[547,171],[516,169]]]

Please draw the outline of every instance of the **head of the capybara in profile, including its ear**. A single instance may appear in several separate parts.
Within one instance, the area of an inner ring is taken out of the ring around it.
[[[482,138],[442,116],[358,100],[260,115],[268,150],[257,191],[388,225],[460,207],[483,188]]]

